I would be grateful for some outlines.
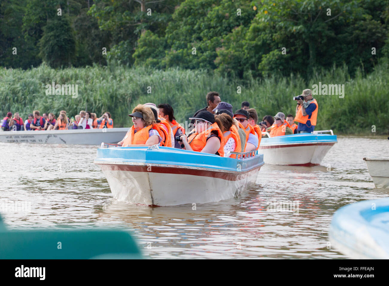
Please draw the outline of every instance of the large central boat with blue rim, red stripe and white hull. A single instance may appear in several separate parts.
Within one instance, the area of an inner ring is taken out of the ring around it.
[[[231,153],[235,159],[170,147],[102,144],[94,163],[119,201],[202,204],[237,197],[251,186],[264,164],[263,155],[255,153]]]

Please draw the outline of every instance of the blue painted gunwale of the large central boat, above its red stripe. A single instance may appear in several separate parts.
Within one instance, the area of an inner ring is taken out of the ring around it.
[[[247,159],[233,159],[215,154],[200,153],[170,147],[159,147],[158,150],[148,150],[148,147],[119,147],[97,149],[95,163],[108,162],[143,163],[177,165],[182,167],[200,167],[227,172],[247,172],[264,164],[263,154],[257,154]],[[238,164],[240,164],[238,170]]]

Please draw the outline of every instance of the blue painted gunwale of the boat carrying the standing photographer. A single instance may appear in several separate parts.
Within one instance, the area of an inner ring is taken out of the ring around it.
[[[271,138],[262,138],[261,146],[277,145],[277,144],[312,144],[312,143],[336,143],[338,142],[336,135],[331,134],[312,134],[312,133],[300,133],[284,136],[276,136]]]

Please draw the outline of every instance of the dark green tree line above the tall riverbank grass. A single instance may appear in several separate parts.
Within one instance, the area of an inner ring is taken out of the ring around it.
[[[386,0],[2,0],[0,66],[352,75],[388,58],[388,20]]]

